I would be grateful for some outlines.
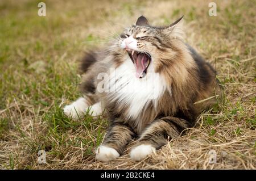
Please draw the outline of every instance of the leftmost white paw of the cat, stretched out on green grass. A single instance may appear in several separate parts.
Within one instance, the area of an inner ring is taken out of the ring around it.
[[[63,112],[67,116],[71,116],[73,119],[78,119],[80,116],[84,115],[88,105],[84,98],[79,98],[70,105],[63,108]]]

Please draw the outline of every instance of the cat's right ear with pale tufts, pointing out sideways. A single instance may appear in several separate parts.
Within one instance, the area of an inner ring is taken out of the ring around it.
[[[179,37],[183,39],[184,38],[183,22],[182,22],[183,16],[177,19],[174,23],[170,24],[170,26],[164,28],[164,31],[168,33],[168,35],[170,35],[171,37]]]

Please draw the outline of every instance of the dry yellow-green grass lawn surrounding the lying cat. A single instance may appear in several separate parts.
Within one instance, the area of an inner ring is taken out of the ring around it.
[[[255,169],[255,1],[216,1],[217,16],[208,15],[210,1],[45,1],[45,17],[38,2],[0,2],[0,169]],[[108,45],[141,14],[154,25],[184,14],[186,40],[216,63],[225,96],[149,158],[131,161],[131,143],[117,161],[101,163],[94,149],[108,121],[74,121],[61,108],[80,96],[84,50]]]

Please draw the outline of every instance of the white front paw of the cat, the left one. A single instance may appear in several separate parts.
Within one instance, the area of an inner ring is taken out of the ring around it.
[[[96,150],[96,159],[101,162],[112,161],[113,159],[119,157],[117,150],[110,148],[108,146],[101,145]]]

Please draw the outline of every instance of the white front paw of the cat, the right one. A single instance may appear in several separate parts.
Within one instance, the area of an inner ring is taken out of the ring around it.
[[[151,145],[139,145],[131,149],[130,157],[135,161],[140,161],[155,151]]]

